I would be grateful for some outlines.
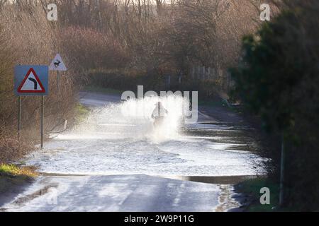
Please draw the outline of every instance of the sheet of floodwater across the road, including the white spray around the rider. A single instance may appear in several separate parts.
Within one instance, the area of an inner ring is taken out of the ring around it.
[[[147,174],[169,176],[255,175],[261,159],[248,151],[247,128],[211,124],[181,124],[181,97],[160,97],[168,110],[155,129],[150,117],[159,97],[113,102],[96,100],[87,119],[31,153],[26,164],[52,174]],[[92,100],[82,99],[92,105]],[[200,123],[200,122],[205,122]]]

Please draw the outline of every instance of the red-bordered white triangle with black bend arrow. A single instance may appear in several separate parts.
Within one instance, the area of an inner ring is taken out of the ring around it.
[[[18,93],[45,93],[45,88],[33,68],[26,73],[18,87]]]

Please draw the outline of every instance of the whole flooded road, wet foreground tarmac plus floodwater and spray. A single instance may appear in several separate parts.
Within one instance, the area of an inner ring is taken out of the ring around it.
[[[198,123],[180,124],[181,100],[168,98],[162,100],[167,121],[155,129],[149,117],[155,99],[82,95],[92,109],[87,119],[24,160],[51,176],[38,177],[3,210],[226,211],[239,206],[233,186],[214,178],[262,172],[255,167],[261,158],[249,151],[254,140],[247,126],[202,112]]]

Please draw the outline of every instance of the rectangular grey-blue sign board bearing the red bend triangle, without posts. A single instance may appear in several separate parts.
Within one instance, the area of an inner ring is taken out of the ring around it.
[[[48,67],[23,65],[14,68],[14,91],[16,95],[47,95]]]

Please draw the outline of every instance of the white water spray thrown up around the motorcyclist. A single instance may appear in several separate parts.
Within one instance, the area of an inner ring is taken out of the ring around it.
[[[153,126],[151,115],[157,102],[162,102],[168,114],[161,126]],[[163,142],[179,137],[184,99],[180,96],[145,97],[112,103],[94,111],[82,124],[57,139],[130,138]]]

